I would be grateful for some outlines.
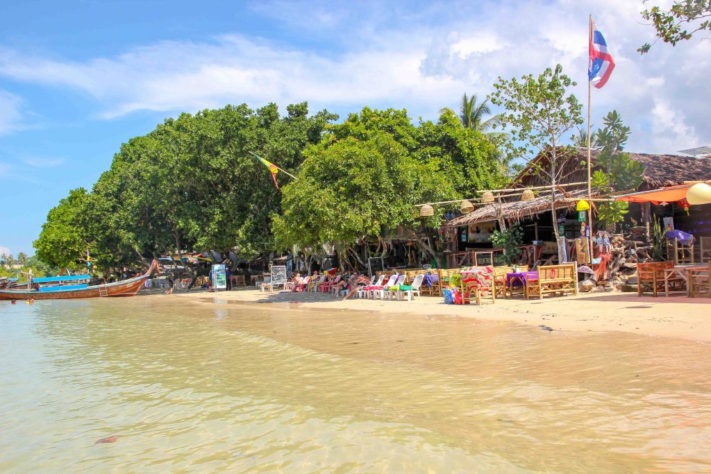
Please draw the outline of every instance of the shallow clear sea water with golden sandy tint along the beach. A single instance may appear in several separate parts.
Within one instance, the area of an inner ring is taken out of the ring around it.
[[[0,301],[0,406],[1,472],[711,472],[709,345],[463,318]]]

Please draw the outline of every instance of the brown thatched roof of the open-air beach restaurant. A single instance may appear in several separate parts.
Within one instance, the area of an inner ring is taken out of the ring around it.
[[[597,151],[592,151],[592,162],[595,163]],[[679,155],[651,155],[648,153],[629,153],[630,158],[639,161],[644,165],[643,183],[639,190],[661,188],[681,184],[684,181],[698,181],[711,179],[711,158],[693,158]],[[528,163],[528,166],[509,185],[509,188],[527,188],[529,186],[548,185],[545,178],[540,176],[536,170],[538,167],[546,166],[547,154],[541,153]],[[587,149],[576,149],[575,153],[568,158],[561,166],[565,168],[563,175],[565,179],[561,184],[579,183],[587,180],[587,166],[583,163],[587,161]],[[570,198],[584,198],[587,196],[587,188],[579,186],[577,190],[566,189]],[[557,199],[562,197],[557,193]],[[530,201],[521,201],[520,197],[507,198],[503,203],[501,211],[503,217],[508,220],[520,220],[523,217],[531,217],[550,210],[550,196],[538,197]],[[474,225],[479,222],[492,222],[497,218],[496,208],[498,205],[491,204],[474,210],[467,215],[456,217],[444,224],[444,227],[460,227]],[[575,201],[556,201],[556,209],[572,209]]]

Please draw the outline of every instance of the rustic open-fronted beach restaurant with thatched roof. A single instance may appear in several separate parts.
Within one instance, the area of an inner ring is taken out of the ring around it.
[[[629,156],[644,166],[642,184],[634,190],[638,193],[711,179],[711,158],[647,153],[629,153]],[[601,168],[596,158],[597,151],[592,151],[593,171]],[[587,149],[577,149],[577,153],[559,165],[560,179],[556,188],[551,189],[550,182],[539,171],[550,166],[550,158],[547,153],[540,153],[506,190],[489,193],[489,196],[483,193],[477,203],[478,208],[472,206],[471,212],[445,222],[442,232],[448,242],[447,266],[491,264],[492,259],[495,265],[503,264],[503,249],[493,248],[488,242],[488,235],[493,230],[500,230],[502,224],[508,227],[513,222],[519,222],[523,230],[521,264],[533,266],[536,262],[557,262],[554,225],[559,234],[566,238],[567,261],[577,259],[584,222],[577,208],[581,200],[587,203],[587,168],[581,165],[586,159]],[[610,199],[610,196],[602,197],[593,191],[590,204],[595,208],[596,204]],[[635,200],[630,201],[636,203]],[[556,210],[555,222],[552,208]],[[628,237],[649,242],[653,222],[663,222],[665,227],[670,224],[675,230],[694,235],[702,242],[701,237],[711,237],[711,205],[684,206],[681,201],[664,200],[639,202],[630,205],[625,221],[617,225],[616,231],[624,231]],[[693,250],[697,261],[701,260],[702,251],[706,249],[702,250],[700,245]]]

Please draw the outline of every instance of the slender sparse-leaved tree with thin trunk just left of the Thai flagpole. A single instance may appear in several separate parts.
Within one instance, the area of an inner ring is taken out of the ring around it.
[[[552,186],[564,177],[564,168],[559,163],[574,153],[572,146],[563,146],[565,137],[583,122],[582,104],[568,93],[577,84],[562,74],[562,69],[559,64],[555,70],[547,68],[538,77],[525,75],[520,80],[499,77],[491,94],[491,102],[506,109],[503,119],[513,138],[507,143],[508,151],[518,157],[548,153],[550,166],[537,171]],[[555,196],[555,188],[552,193]],[[551,214],[555,222],[555,198],[551,200]],[[557,226],[553,230],[557,238]]]

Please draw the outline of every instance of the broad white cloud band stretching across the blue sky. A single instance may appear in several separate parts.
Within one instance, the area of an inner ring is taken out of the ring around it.
[[[141,109],[303,100],[319,109],[368,104],[435,118],[441,107],[456,107],[462,92],[481,97],[498,76],[538,74],[555,63],[579,82],[575,92],[584,100],[587,14],[581,12],[593,11],[617,63],[608,85],[593,92],[594,125],[614,108],[633,128],[629,148],[635,151],[711,143],[711,127],[701,126],[711,102],[711,42],[657,44],[638,55],[636,48],[653,38],[642,24],[643,8],[641,1],[619,0],[424,4],[410,11],[397,2],[367,8],[255,4],[284,28],[333,38],[331,48],[231,34],[199,43],[163,41],[82,62],[0,50],[0,75],[79,90],[100,104],[97,115],[105,119]]]

